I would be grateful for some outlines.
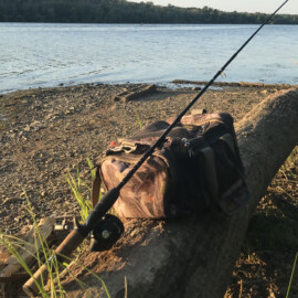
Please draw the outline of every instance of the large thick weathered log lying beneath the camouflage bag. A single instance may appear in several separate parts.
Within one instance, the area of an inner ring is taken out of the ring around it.
[[[217,213],[173,222],[127,221],[126,234],[115,248],[84,253],[79,262],[97,273],[111,297],[223,297],[240,253],[249,217],[259,199],[298,141],[298,89],[279,92],[262,102],[236,124],[249,205],[233,217]],[[64,286],[71,297],[102,296],[100,281],[78,265]]]

